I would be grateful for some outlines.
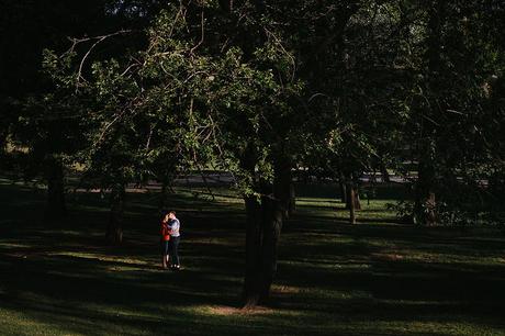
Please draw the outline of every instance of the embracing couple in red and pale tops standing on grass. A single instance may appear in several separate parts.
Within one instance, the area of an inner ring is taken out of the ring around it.
[[[165,213],[161,220],[161,267],[173,270],[180,269],[179,264],[179,240],[180,240],[180,222],[176,217],[176,212]]]

